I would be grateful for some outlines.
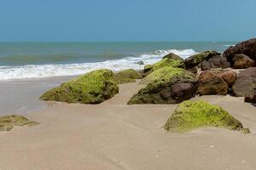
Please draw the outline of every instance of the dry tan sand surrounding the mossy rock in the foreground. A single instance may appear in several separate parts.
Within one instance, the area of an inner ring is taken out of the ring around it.
[[[1,170],[255,170],[256,107],[230,96],[204,96],[250,134],[220,128],[168,133],[177,105],[126,105],[142,86],[120,86],[101,105],[60,104],[29,114],[41,124],[0,133]]]

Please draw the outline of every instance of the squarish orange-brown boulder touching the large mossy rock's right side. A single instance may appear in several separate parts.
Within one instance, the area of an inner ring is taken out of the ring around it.
[[[229,86],[220,75],[220,71],[203,71],[199,76],[197,93],[200,95],[225,95],[228,94]]]

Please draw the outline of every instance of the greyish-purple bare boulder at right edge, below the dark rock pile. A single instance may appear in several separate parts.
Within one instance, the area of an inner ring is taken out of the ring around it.
[[[253,95],[256,89],[256,67],[249,67],[241,71],[236,77],[232,86],[232,93],[237,97],[246,97]]]

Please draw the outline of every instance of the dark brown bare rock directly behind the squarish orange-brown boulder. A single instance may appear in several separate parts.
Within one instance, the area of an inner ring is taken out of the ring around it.
[[[220,55],[214,55],[212,56],[211,59],[205,59],[201,63],[201,70],[209,70],[209,69],[215,69],[215,68],[229,68],[230,67],[230,62],[227,61],[226,58],[220,56]]]

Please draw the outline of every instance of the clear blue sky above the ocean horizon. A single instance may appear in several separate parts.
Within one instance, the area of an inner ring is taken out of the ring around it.
[[[3,0],[0,41],[240,41],[256,0]]]

